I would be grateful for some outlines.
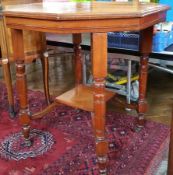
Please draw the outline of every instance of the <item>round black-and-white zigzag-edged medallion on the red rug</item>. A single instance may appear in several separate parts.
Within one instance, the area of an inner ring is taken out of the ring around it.
[[[53,135],[50,132],[32,129],[30,139],[33,145],[26,147],[22,132],[7,136],[0,144],[0,154],[7,159],[21,160],[36,157],[47,152],[54,144]]]

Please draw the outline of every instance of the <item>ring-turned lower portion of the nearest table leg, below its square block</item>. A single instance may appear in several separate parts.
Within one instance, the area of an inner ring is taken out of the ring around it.
[[[95,130],[96,154],[100,174],[107,174],[108,143],[105,135],[106,104],[104,96],[104,78],[94,78],[94,115],[93,126]]]

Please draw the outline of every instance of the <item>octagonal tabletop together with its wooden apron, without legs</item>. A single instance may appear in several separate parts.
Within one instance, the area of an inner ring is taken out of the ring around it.
[[[7,6],[4,15],[8,27],[65,34],[141,30],[164,21],[168,9],[150,3],[57,2]]]

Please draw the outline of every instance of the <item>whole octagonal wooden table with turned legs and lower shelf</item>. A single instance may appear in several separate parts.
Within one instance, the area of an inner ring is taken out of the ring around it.
[[[105,90],[107,75],[107,32],[141,31],[140,92],[138,102],[137,128],[144,125],[147,110],[145,100],[147,84],[148,55],[152,47],[153,25],[165,20],[168,6],[158,4],[136,4],[133,2],[91,2],[91,3],[37,3],[6,7],[6,24],[12,29],[13,50],[16,61],[17,89],[20,99],[20,121],[26,145],[30,146],[29,130],[31,119],[39,118],[58,103],[92,112],[96,154],[100,174],[107,174],[108,143],[105,135],[106,101],[114,94]],[[76,65],[76,86],[57,97],[44,111],[31,115],[28,108],[27,84],[24,65],[22,30],[34,30],[57,34],[73,34]],[[81,33],[91,33],[92,87],[85,87],[81,69]]]

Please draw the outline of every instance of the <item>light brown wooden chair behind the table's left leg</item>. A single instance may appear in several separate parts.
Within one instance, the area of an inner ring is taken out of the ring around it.
[[[38,2],[34,0],[2,0],[3,5],[11,5],[16,3],[31,3]],[[33,31],[23,31],[24,35],[24,52],[25,63],[30,63],[33,60],[39,58],[42,63],[43,69],[43,82],[44,92],[47,104],[50,104],[49,86],[48,86],[48,52],[46,51],[46,39],[44,34]],[[10,73],[10,62],[14,61],[11,41],[11,31],[6,28],[2,13],[0,13],[0,50],[1,60],[0,64],[3,67],[4,79],[7,87],[8,101],[9,101],[9,113],[11,118],[15,116],[14,110],[14,97],[12,90],[12,80]]]

